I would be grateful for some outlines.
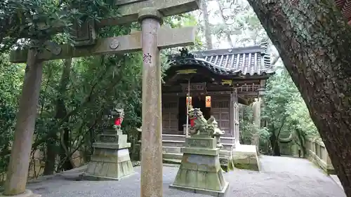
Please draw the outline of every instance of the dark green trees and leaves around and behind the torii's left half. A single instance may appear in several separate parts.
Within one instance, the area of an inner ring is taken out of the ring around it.
[[[83,2],[84,12],[80,9]],[[5,52],[0,55],[0,175],[8,165],[8,147],[13,141],[25,68],[23,64],[8,62],[8,48],[14,46],[20,37],[67,42],[65,32],[70,30],[72,22],[96,21],[111,14],[115,14],[114,10],[100,0],[8,0],[0,3],[0,52]],[[46,22],[46,25],[39,26],[41,22]],[[65,24],[63,34],[55,34],[58,23]],[[185,14],[166,18],[165,23],[182,27],[195,25],[197,20],[193,15]],[[98,36],[125,35],[134,29],[140,29],[140,25],[105,27],[100,29]],[[195,48],[200,46],[201,42]],[[178,53],[178,49],[162,51],[163,59],[166,53],[173,52]],[[29,175],[41,175],[43,170],[52,174],[69,169],[67,158],[77,150],[84,153],[84,159],[88,161],[91,145],[96,135],[102,132],[102,116],[117,104],[124,108],[122,129],[128,134],[128,142],[134,150],[140,135],[135,128],[141,125],[141,77],[141,53],[45,62],[31,154],[33,165],[34,152],[41,151],[42,156],[35,158],[40,160],[38,166],[41,169],[29,172]]]

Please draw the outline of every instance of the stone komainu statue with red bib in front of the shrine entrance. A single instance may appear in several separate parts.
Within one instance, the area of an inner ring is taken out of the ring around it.
[[[205,135],[208,137],[216,137],[217,147],[222,147],[220,144],[220,136],[224,135],[225,131],[218,128],[218,123],[216,119],[211,116],[211,118],[206,119],[202,115],[202,112],[198,108],[192,108],[189,106],[188,116],[190,118],[190,135]]]

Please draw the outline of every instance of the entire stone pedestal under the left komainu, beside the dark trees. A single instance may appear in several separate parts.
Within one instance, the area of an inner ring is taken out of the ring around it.
[[[131,158],[129,158],[127,135],[121,130],[108,130],[98,136],[93,143],[93,156],[86,172],[81,175],[85,180],[119,180],[134,174]]]

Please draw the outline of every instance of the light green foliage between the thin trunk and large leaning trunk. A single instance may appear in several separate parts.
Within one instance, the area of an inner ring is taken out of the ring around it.
[[[305,149],[305,136],[318,136],[305,102],[284,67],[277,69],[277,74],[267,81],[263,106],[262,118],[269,135],[261,132],[261,140],[270,142],[271,149],[286,142],[298,144],[300,149]],[[274,142],[270,139],[272,135],[277,137]],[[287,149],[281,149],[282,154],[293,154],[291,145],[284,146]],[[266,144],[263,143],[262,146],[265,146],[262,149],[267,149]]]

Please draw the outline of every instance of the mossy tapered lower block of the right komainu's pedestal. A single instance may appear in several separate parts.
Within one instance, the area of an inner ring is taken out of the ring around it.
[[[182,163],[174,188],[191,188],[201,191],[222,192],[227,186],[220,168],[219,157],[211,155],[183,154]]]

